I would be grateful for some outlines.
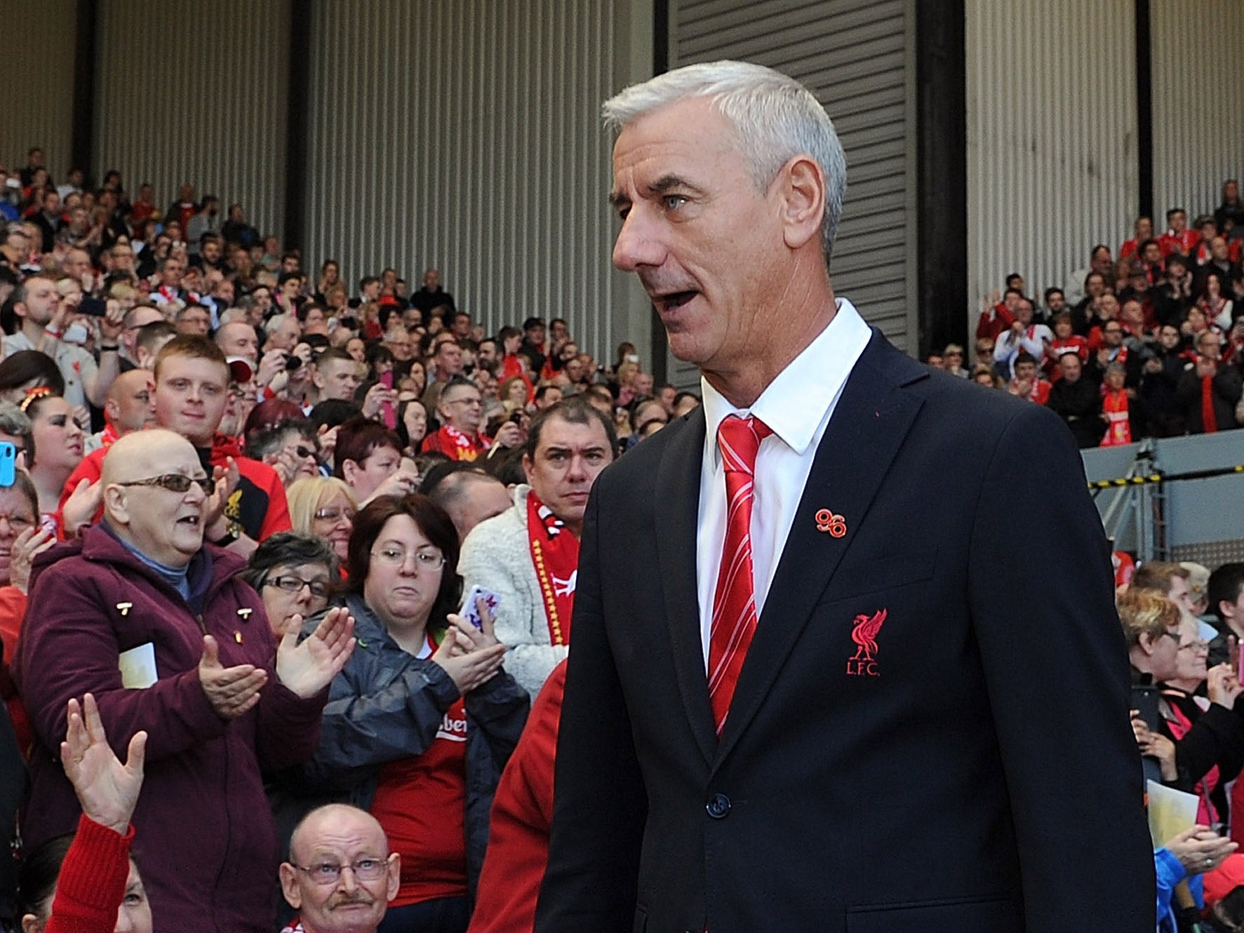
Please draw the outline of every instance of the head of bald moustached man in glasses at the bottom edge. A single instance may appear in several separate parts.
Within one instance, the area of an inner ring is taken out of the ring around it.
[[[348,804],[312,810],[281,863],[281,891],[299,912],[282,933],[373,933],[397,897],[401,868],[367,811]]]

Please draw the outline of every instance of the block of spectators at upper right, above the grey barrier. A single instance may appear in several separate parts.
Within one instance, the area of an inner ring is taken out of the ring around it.
[[[969,364],[952,343],[929,364],[1049,406],[1081,448],[1244,424],[1244,202],[1223,184],[1213,213],[1183,208],[1154,235],[1136,220],[1117,250],[1093,246],[1067,282],[1024,276],[984,299]]]

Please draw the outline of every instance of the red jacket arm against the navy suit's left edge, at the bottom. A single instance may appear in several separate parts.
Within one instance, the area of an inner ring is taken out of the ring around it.
[[[549,674],[493,797],[488,855],[466,933],[531,933],[549,860],[552,773],[566,662]]]

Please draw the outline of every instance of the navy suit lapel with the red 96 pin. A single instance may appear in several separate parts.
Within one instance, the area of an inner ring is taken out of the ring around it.
[[[718,763],[729,754],[764,702],[921,408],[921,399],[902,387],[927,377],[923,366],[894,350],[873,330],[812,462],[756,637],[730,702],[717,749]],[[841,515],[847,524],[846,535],[833,537],[819,531],[815,516],[820,509]]]

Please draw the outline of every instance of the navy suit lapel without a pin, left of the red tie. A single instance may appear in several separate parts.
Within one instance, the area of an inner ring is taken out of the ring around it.
[[[703,455],[704,412],[698,408],[677,432],[661,458],[653,509],[661,592],[678,688],[683,694],[683,710],[707,764],[713,760],[717,750],[717,733],[708,699],[695,590],[695,527]]]

